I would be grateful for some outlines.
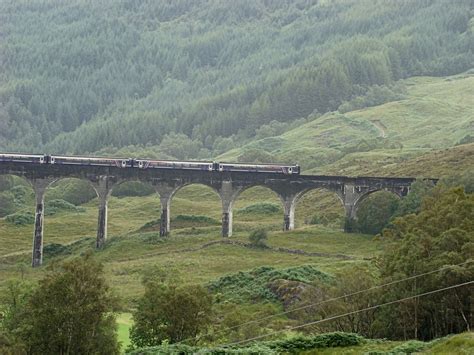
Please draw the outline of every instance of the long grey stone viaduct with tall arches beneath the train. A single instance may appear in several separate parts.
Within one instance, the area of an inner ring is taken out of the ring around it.
[[[107,201],[112,189],[127,181],[140,181],[153,186],[161,201],[160,234],[170,231],[170,204],[173,195],[182,187],[202,184],[211,187],[222,201],[222,236],[232,235],[232,207],[239,194],[253,186],[265,186],[280,198],[283,210],[283,229],[294,229],[295,206],[306,192],[326,189],[334,192],[344,206],[346,217],[356,218],[357,208],[375,191],[386,190],[397,196],[410,191],[413,178],[346,177],[318,175],[283,175],[255,172],[217,172],[178,169],[138,169],[85,165],[50,165],[0,162],[0,175],[16,175],[31,183],[36,195],[36,214],[33,236],[32,266],[43,260],[44,195],[48,186],[65,178],[88,180],[98,197],[99,213],[97,248],[107,239]]]

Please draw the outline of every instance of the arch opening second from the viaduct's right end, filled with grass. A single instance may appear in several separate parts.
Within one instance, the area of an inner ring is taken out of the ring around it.
[[[301,193],[296,200],[295,226],[320,225],[334,229],[344,227],[345,210],[340,197],[325,188]]]

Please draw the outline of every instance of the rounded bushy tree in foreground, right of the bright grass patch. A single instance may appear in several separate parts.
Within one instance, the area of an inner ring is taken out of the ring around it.
[[[130,339],[144,347],[194,338],[210,324],[211,313],[212,298],[202,286],[148,282],[133,314]]]

